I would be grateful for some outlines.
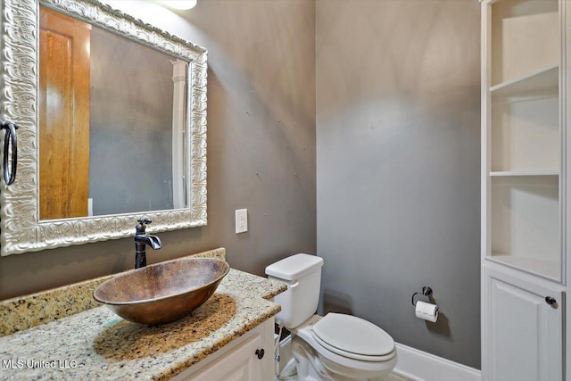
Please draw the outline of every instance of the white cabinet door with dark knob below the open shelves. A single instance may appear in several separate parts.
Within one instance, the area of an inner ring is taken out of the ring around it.
[[[561,380],[563,292],[505,275],[489,274],[484,283],[484,379]]]

